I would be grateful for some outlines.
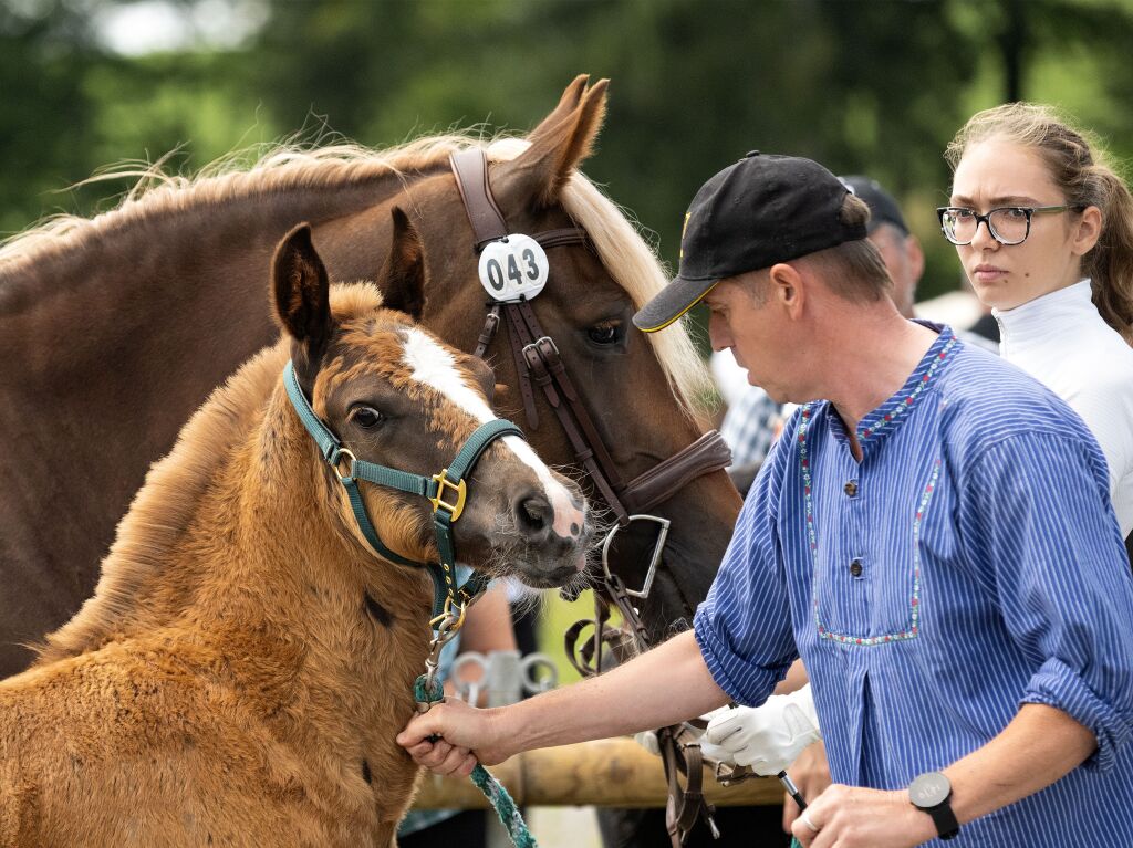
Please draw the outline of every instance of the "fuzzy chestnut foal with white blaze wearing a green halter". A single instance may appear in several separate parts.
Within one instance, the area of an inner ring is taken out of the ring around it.
[[[433,588],[370,553],[340,471],[451,473],[482,446],[450,482],[467,491],[460,560],[537,586],[585,567],[581,491],[494,420],[488,369],[386,308],[416,311],[412,281],[384,303],[372,284],[338,288],[332,309],[306,228],[273,280],[283,340],[184,428],[94,598],[0,682],[0,845],[392,843],[417,776],[393,738],[426,667]],[[356,461],[324,455],[304,397]],[[425,497],[359,490],[384,545],[435,560]]]

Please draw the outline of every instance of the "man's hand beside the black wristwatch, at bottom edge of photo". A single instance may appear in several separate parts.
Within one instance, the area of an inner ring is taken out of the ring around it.
[[[913,848],[936,837],[928,813],[904,789],[883,791],[833,785],[794,820],[803,848]]]

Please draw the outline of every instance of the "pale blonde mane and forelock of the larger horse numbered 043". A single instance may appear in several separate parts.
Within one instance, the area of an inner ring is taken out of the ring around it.
[[[162,162],[123,168],[87,182],[137,177],[119,206],[93,219],[60,215],[12,237],[0,246],[0,273],[69,249],[90,239],[128,226],[151,215],[219,204],[296,188],[333,188],[406,172],[445,168],[449,155],[469,146],[484,147],[489,159],[514,159],[528,146],[521,138],[476,138],[471,134],[428,136],[374,151],[356,144],[324,147],[275,145],[247,165],[247,151],[218,160],[191,177],[167,174]],[[594,242],[611,276],[638,308],[668,282],[654,251],[634,223],[583,174],[574,172],[562,196],[563,207]],[[710,378],[683,324],[647,335],[681,410],[701,429]]]

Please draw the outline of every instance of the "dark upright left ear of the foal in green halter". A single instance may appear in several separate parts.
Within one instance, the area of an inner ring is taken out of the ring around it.
[[[303,365],[317,363],[331,339],[330,288],[310,224],[299,224],[275,248],[272,293],[276,320],[306,354]]]

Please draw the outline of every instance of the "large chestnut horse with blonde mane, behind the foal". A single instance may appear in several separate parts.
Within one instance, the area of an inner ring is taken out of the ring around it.
[[[511,232],[585,235],[546,241],[550,282],[529,309],[607,449],[615,494],[642,474],[666,483],[648,509],[673,522],[640,603],[648,631],[658,637],[689,617],[740,499],[723,471],[689,480],[718,460],[667,480],[655,473],[701,436],[695,409],[707,382],[683,329],[647,337],[633,328],[630,317],[665,275],[577,170],[600,127],[605,91],[605,82],[588,87],[579,77],[526,139],[283,151],[246,171],[167,179],[113,212],[50,223],[0,250],[0,359],[9,363],[0,382],[0,674],[26,667],[31,654],[19,643],[61,625],[91,594],[148,464],[208,392],[271,342],[263,269],[298,222],[310,222],[335,280],[374,280],[392,245],[395,267],[424,268],[424,326],[459,350],[476,349],[487,295],[450,166],[451,154],[470,147],[487,154],[489,191]],[[608,507],[585,476],[588,452],[600,448],[571,444],[538,375],[521,375],[516,332],[504,326],[486,351],[500,384],[495,409],[580,480],[596,507]],[[612,507],[607,515],[619,517]],[[654,550],[656,531],[646,524],[631,524],[611,550],[613,569],[634,588]]]

